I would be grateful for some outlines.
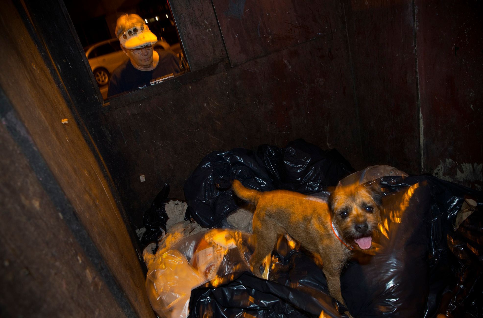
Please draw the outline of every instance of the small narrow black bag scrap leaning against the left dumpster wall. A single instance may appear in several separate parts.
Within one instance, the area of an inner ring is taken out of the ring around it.
[[[142,217],[146,231],[142,234],[141,242],[145,246],[157,242],[157,238],[163,234],[163,231],[166,233],[166,222],[169,217],[164,207],[169,193],[170,186],[165,184]]]

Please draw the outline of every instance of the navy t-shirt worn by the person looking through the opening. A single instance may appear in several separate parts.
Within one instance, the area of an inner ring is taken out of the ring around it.
[[[151,71],[140,71],[136,69],[132,66],[130,59],[118,66],[109,79],[107,97],[126,91],[149,87],[151,86],[151,82],[156,78],[170,73],[177,74],[180,72],[179,59],[176,54],[163,49],[156,49],[156,52],[159,55],[159,61]]]

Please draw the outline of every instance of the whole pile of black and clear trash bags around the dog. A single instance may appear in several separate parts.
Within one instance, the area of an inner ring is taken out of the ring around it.
[[[303,140],[212,153],[186,181],[186,202],[165,202],[169,187],[160,192],[141,233],[159,317],[346,317],[322,269],[287,235],[266,260],[266,279],[251,273],[252,211],[232,195],[232,179],[313,200],[338,184],[377,183],[384,212],[375,251],[355,253],[341,275],[351,315],[482,317],[483,192],[386,165],[355,172],[336,151]]]

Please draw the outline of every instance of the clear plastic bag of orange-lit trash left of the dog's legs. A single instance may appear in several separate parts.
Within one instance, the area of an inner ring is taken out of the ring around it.
[[[191,290],[235,272],[250,271],[248,235],[211,230],[185,237],[150,260],[146,276],[149,301],[159,317],[186,318]]]

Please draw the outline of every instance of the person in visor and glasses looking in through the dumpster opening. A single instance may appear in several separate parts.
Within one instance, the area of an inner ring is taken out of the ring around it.
[[[141,16],[121,15],[117,19],[115,33],[129,59],[111,75],[108,97],[154,85],[180,72],[176,54],[162,48],[154,49],[157,37]]]

